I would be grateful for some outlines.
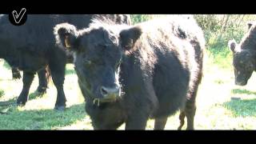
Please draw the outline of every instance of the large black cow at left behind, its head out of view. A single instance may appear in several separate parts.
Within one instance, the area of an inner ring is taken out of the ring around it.
[[[53,28],[61,22],[70,22],[79,28],[89,26],[92,19],[106,19],[114,23],[129,22],[127,15],[98,14],[29,14],[26,23],[14,26],[8,15],[0,16],[0,58],[12,67],[23,70],[23,89],[17,103],[25,105],[34,74],[49,66],[54,85],[58,90],[55,109],[64,110],[63,91],[66,50],[55,46]]]

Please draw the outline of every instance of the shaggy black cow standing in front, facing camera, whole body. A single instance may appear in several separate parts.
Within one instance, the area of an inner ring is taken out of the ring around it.
[[[145,129],[155,118],[154,129],[162,130],[177,110],[194,129],[204,48],[194,18],[170,16],[136,26],[95,21],[83,30],[62,23],[54,31],[58,46],[75,52],[94,129],[117,129],[123,122],[126,130]]]

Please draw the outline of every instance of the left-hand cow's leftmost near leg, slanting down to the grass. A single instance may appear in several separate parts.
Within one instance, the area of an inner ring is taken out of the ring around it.
[[[18,99],[17,99],[17,104],[18,105],[25,105],[27,100],[28,100],[28,94],[30,91],[30,86],[31,83],[33,82],[34,79],[34,74],[35,73],[30,73],[30,72],[25,72],[23,71],[23,88],[22,88],[22,93],[19,94]]]

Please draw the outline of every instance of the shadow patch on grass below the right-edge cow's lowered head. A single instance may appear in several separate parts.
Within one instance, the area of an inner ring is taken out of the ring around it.
[[[222,104],[227,110],[231,110],[234,117],[256,116],[256,99],[231,99]]]

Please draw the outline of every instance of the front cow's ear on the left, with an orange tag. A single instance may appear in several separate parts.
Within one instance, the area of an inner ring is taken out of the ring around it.
[[[61,23],[54,27],[56,44],[68,50],[78,50],[78,30],[69,23]]]

